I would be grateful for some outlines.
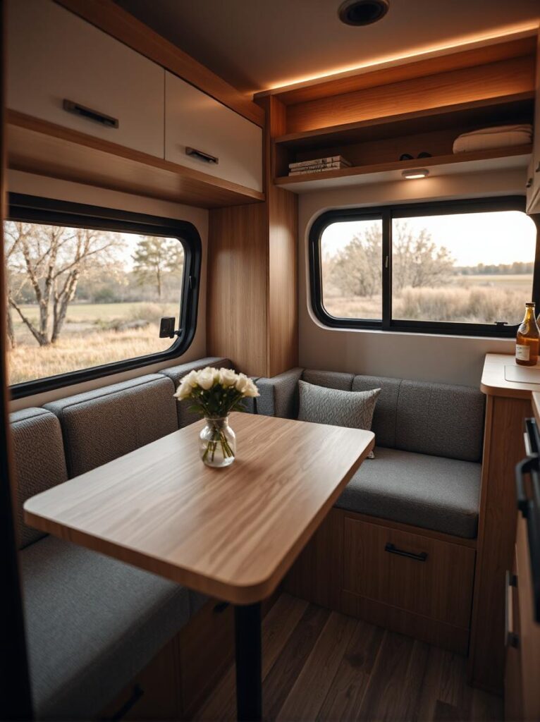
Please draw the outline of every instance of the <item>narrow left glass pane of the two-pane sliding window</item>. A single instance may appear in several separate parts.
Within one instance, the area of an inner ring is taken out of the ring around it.
[[[321,234],[323,306],[335,318],[382,318],[381,219],[339,221]]]

